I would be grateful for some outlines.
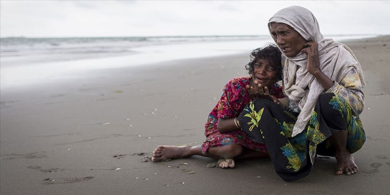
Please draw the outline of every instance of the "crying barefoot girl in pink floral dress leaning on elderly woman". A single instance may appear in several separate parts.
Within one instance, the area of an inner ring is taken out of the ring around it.
[[[221,99],[209,114],[205,128],[206,142],[197,146],[160,145],[153,151],[152,161],[188,158],[193,155],[220,159],[218,166],[234,167],[234,158],[267,157],[264,144],[250,140],[241,131],[237,117],[253,99],[253,90],[264,89],[265,94],[277,103],[283,98],[282,87],[276,82],[282,79],[281,53],[271,44],[257,48],[250,54],[251,62],[245,68],[250,77],[230,80],[223,89]],[[257,85],[259,87],[254,86]]]

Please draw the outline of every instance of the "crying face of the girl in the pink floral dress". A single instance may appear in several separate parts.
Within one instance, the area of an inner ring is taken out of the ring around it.
[[[262,87],[267,86],[269,89],[275,84],[277,74],[275,66],[269,63],[268,59],[259,59],[254,64],[252,79],[259,82]]]

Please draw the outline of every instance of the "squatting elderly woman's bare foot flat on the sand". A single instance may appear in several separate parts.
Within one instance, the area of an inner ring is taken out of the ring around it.
[[[342,175],[343,173],[346,175],[351,175],[355,174],[359,170],[358,166],[355,164],[355,160],[350,153],[336,155],[336,160],[336,175]]]

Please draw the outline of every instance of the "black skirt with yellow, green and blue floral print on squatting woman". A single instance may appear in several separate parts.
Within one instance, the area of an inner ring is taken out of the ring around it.
[[[238,117],[241,129],[251,140],[265,144],[277,174],[285,181],[307,176],[316,152],[334,156],[334,147],[328,138],[336,131],[347,131],[347,148],[358,151],[365,142],[365,133],[359,117],[336,94],[322,94],[305,131],[291,137],[296,115],[287,112],[267,99],[250,102]]]

